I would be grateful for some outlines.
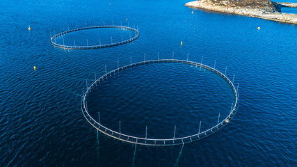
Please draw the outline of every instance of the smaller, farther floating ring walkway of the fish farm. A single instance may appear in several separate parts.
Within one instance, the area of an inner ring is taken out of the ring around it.
[[[128,40],[122,40],[120,42],[115,42],[115,43],[110,43],[110,44],[104,44],[104,45],[92,45],[92,46],[70,46],[70,45],[59,45],[55,42],[55,38],[57,38],[58,36],[61,35],[65,35],[66,33],[71,33],[74,31],[81,31],[81,30],[86,30],[86,29],[102,29],[102,28],[116,28],[116,29],[128,29],[128,30],[132,30],[135,32],[135,36],[133,38],[129,38]],[[63,49],[98,49],[98,48],[104,48],[104,47],[114,47],[117,45],[122,45],[128,42],[131,42],[133,40],[136,40],[136,38],[138,38],[139,36],[139,32],[138,30],[131,28],[129,26],[88,26],[88,27],[83,27],[83,28],[79,28],[79,29],[72,29],[72,30],[68,30],[68,31],[64,31],[62,33],[58,33],[56,35],[54,35],[53,37],[51,37],[51,45],[53,45],[54,47],[60,47]]]

